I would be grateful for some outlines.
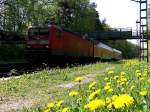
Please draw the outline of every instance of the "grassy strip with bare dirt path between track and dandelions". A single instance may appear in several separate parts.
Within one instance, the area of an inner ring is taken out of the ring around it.
[[[115,67],[110,63],[95,63],[72,68],[46,68],[44,70],[0,79],[0,111],[43,106],[58,99],[69,89],[78,86],[75,77],[85,78],[81,84],[90,83],[97,75],[103,75]]]

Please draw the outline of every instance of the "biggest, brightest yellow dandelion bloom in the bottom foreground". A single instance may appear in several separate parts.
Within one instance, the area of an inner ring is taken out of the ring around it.
[[[132,96],[128,94],[119,95],[116,100],[114,100],[113,105],[116,109],[124,108],[132,105],[134,103],[134,99]]]

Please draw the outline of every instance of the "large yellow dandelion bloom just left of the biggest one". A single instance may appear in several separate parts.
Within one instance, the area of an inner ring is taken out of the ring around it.
[[[93,110],[103,107],[104,105],[105,105],[105,103],[103,100],[96,99],[96,100],[89,102],[89,104],[85,105],[84,108],[88,108],[91,111],[93,111]]]

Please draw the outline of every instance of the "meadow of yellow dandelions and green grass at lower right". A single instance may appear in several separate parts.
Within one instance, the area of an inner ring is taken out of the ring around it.
[[[90,84],[81,84],[65,98],[49,102],[44,112],[150,112],[150,65],[136,60],[99,75]]]

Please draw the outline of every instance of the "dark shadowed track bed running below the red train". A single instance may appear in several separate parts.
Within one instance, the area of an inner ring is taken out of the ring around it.
[[[96,61],[92,61],[96,62]],[[80,64],[89,64],[89,62],[66,62],[66,63],[51,63],[47,62],[45,63],[34,63],[31,64],[29,62],[14,62],[14,63],[6,63],[6,64],[0,64],[0,78],[1,77],[10,77],[10,76],[19,76],[22,75],[23,73],[31,73],[34,71],[39,71],[44,68],[55,68],[55,67],[60,67],[60,68],[65,68],[65,67],[73,67],[73,66],[78,66]]]

